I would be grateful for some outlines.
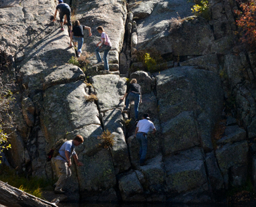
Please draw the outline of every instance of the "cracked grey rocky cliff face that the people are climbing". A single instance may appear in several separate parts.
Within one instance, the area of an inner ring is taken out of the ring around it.
[[[249,159],[249,146],[255,151],[255,54],[237,54],[235,1],[210,1],[210,21],[191,16],[193,3],[186,0],[68,3],[92,28],[92,37],[85,31],[83,53],[96,62],[97,26],[103,25],[113,44],[110,70],[119,72],[87,72],[85,82],[81,68],[68,64],[75,50],[69,48],[67,26],[60,31],[50,21],[53,0],[0,1],[0,45],[13,59],[13,70],[4,74],[16,82],[17,131],[7,152],[13,167],[52,179],[50,146],[80,134],[85,142],[76,151],[84,166],[71,167],[66,186],[73,200],[210,202],[255,174],[255,157]],[[142,50],[157,50],[166,70],[131,73],[129,68],[142,66]],[[134,117],[133,105],[129,115],[122,113],[124,77],[142,86],[139,115],[149,113],[157,128],[156,136],[148,136],[144,166],[138,165],[134,119],[125,124]],[[98,100],[88,101],[90,94]],[[223,116],[228,119],[219,122]],[[217,123],[225,128],[218,141]],[[106,129],[115,135],[111,150],[97,139]]]

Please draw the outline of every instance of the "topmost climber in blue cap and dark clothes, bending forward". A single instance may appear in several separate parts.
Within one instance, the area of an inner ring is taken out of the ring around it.
[[[63,17],[66,15],[65,19],[67,18],[67,25],[69,27],[69,31],[71,31],[72,23],[71,23],[71,7],[67,3],[63,3],[63,0],[58,0],[58,5],[56,6],[54,17],[52,21],[56,21],[57,11],[59,10],[60,13],[60,30],[64,31],[63,25]]]

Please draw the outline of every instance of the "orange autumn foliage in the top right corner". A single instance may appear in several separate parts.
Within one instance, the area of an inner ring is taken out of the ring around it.
[[[241,41],[245,44],[256,44],[256,0],[249,0],[246,3],[240,3],[241,10],[235,10],[238,15],[237,25],[241,29]]]

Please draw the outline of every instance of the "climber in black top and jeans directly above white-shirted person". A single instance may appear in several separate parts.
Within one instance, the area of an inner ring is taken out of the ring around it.
[[[126,98],[127,94],[128,96]],[[126,89],[126,93],[120,99],[124,100],[124,98],[126,98],[126,107],[123,112],[127,112],[130,100],[134,100],[135,123],[138,122],[138,104],[142,102],[142,96],[140,85],[137,84],[137,80],[135,78],[130,81],[130,84],[128,84]]]

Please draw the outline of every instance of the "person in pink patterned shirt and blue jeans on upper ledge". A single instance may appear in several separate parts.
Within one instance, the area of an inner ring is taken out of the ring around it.
[[[110,38],[108,37],[108,34],[105,33],[103,27],[99,26],[97,27],[97,31],[101,34],[101,42],[97,43],[97,48],[95,49],[95,54],[96,54],[96,58],[97,58],[97,64],[101,63],[101,56],[99,54],[99,52],[104,51],[104,55],[103,55],[103,61],[104,61],[104,70],[110,70],[109,66],[108,66],[108,52],[110,52],[112,44],[110,42]]]

